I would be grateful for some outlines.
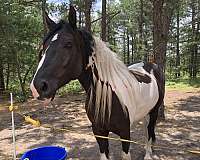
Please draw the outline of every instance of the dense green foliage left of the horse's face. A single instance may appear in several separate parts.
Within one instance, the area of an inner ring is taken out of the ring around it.
[[[1,61],[7,90],[27,98],[27,86],[37,62],[37,49],[43,35],[39,4],[10,0],[1,3]]]

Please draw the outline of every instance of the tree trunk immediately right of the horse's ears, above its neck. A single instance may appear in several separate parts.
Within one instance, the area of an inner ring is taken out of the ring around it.
[[[85,27],[91,32],[91,8],[92,0],[85,0]]]

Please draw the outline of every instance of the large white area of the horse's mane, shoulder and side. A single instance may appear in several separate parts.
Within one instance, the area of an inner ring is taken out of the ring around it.
[[[150,74],[145,71],[144,63],[138,63],[128,68],[103,41],[95,37],[94,40],[94,53],[91,58],[94,60],[93,63],[99,77],[96,79],[93,71],[94,83],[97,86],[95,116],[98,119],[101,114],[101,118],[103,117],[104,120],[105,107],[108,107],[109,112],[111,111],[112,103],[110,102],[112,102],[113,91],[119,98],[125,113],[126,108],[128,109],[130,125],[132,125],[133,122],[144,118],[158,101],[158,86],[153,71]],[[151,78],[151,83],[139,83],[129,70],[145,73]],[[105,85],[106,83],[109,85]]]

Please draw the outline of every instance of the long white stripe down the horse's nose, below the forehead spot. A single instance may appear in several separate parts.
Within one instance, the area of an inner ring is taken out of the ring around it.
[[[32,91],[32,94],[33,94],[33,97],[34,98],[38,98],[39,97],[39,93],[37,92],[37,89],[35,88],[33,82],[34,82],[34,79],[35,79],[35,76],[37,75],[37,72],[39,71],[39,69],[42,67],[44,61],[45,61],[45,57],[46,57],[46,51],[48,50],[49,46],[47,47],[47,49],[45,50],[45,53],[44,55],[42,56],[42,59],[40,60],[39,64],[38,64],[38,67],[37,67],[37,70],[35,72],[35,75],[31,81],[31,85],[30,85],[30,89]]]

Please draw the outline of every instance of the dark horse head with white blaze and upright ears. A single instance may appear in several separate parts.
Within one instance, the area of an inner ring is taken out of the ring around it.
[[[43,41],[41,59],[31,83],[33,96],[50,100],[56,90],[77,79],[83,71],[82,37],[71,6],[68,22],[56,24],[45,15],[49,32]]]

